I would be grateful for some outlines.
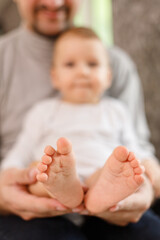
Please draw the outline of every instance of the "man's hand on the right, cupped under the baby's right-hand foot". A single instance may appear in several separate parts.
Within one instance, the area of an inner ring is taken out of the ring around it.
[[[122,200],[114,210],[107,210],[94,216],[105,221],[126,226],[129,223],[136,223],[140,220],[143,213],[151,206],[154,199],[154,192],[150,181],[145,177],[144,184],[134,194]],[[84,211],[86,214],[86,212]],[[82,211],[83,214],[83,211]],[[89,214],[92,215],[93,214]]]

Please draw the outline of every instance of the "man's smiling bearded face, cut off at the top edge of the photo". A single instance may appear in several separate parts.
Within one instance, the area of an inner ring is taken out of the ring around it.
[[[79,0],[15,0],[27,27],[54,36],[72,22]]]

